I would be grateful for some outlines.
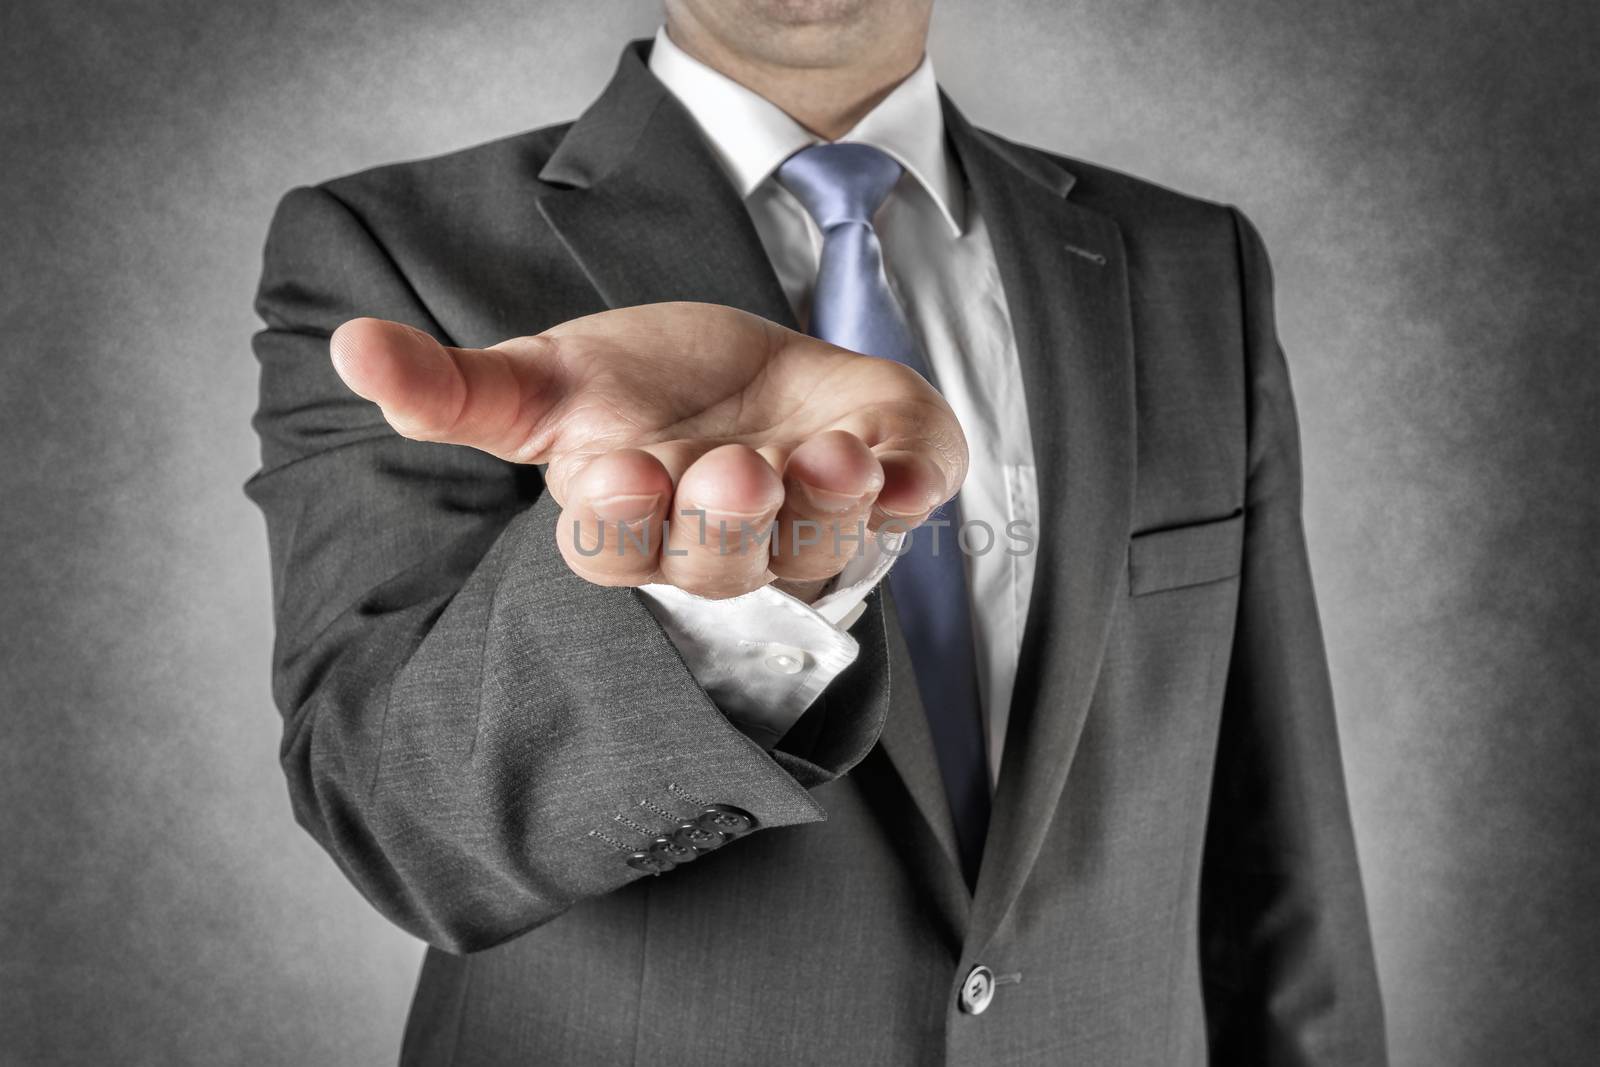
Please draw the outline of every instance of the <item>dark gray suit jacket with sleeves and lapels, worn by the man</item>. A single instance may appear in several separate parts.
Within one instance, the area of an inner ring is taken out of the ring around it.
[[[256,338],[294,813],[426,939],[413,1064],[1378,1064],[1362,885],[1261,243],[1232,210],[970,126],[1043,498],[976,893],[874,598],[773,750],[539,472],[402,440],[328,360],[606,307],[792,325],[738,195],[627,48],[582,118],[282,203]],[[709,803],[755,832],[648,877]],[[1005,976],[957,1009],[973,965]]]

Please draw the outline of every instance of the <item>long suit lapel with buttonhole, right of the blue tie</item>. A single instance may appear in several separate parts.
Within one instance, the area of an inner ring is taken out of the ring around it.
[[[946,128],[1000,264],[1038,469],[1038,566],[968,949],[994,937],[1034,867],[1077,750],[1133,501],[1133,336],[1122,234],[1066,198],[1043,154]]]

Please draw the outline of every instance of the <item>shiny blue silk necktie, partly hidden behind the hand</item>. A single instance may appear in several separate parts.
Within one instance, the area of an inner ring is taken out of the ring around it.
[[[899,176],[901,165],[867,144],[818,144],[795,152],[778,168],[778,181],[822,230],[811,336],[896,360],[930,378],[890,291],[883,250],[872,229],[872,216]],[[978,705],[966,568],[957,545],[957,501],[933,518],[950,525],[912,531],[909,547],[890,571],[890,589],[944,777],[962,870],[966,883],[974,885],[989,830],[989,765]]]

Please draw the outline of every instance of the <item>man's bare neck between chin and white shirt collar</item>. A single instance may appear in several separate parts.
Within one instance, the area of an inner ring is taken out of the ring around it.
[[[824,141],[861,122],[917,69],[923,53],[922,38],[906,38],[870,62],[790,67],[736,53],[693,18],[669,18],[667,35],[685,53],[766,98]]]

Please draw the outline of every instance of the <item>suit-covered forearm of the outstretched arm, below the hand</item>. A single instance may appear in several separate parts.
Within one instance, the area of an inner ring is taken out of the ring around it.
[[[685,798],[763,829],[822,817],[629,590],[560,579],[547,525],[518,515],[453,595],[397,576],[280,664],[298,817],[379,910],[453,950],[642,877],[618,845],[648,848],[634,827],[670,832],[656,813],[694,814]]]

